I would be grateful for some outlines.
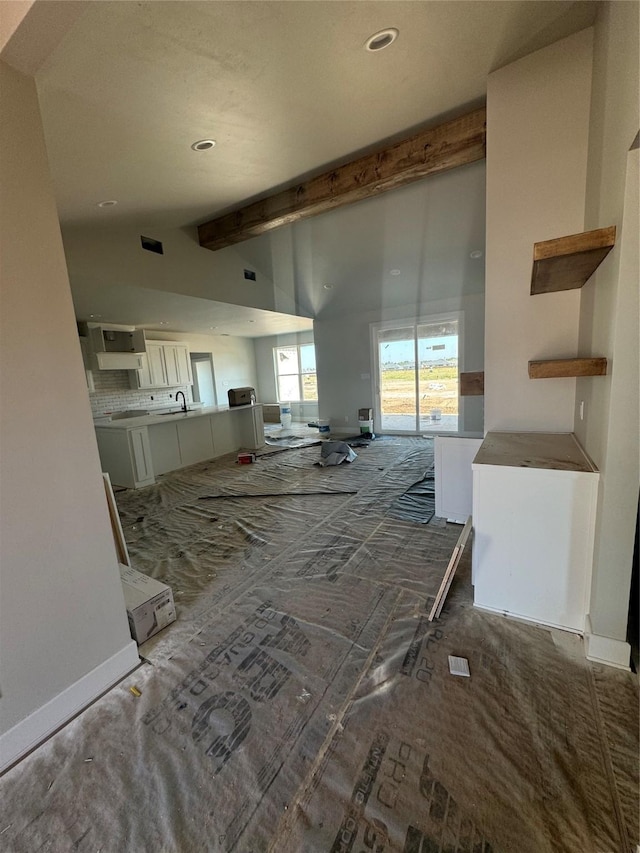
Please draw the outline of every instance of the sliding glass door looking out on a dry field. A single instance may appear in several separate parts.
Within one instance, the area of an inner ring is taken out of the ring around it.
[[[374,326],[377,430],[459,431],[460,324],[449,314]]]

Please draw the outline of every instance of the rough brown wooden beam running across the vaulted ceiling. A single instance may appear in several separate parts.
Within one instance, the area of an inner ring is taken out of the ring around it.
[[[281,225],[482,160],[486,118],[483,107],[205,222],[198,227],[200,245],[216,251]]]

